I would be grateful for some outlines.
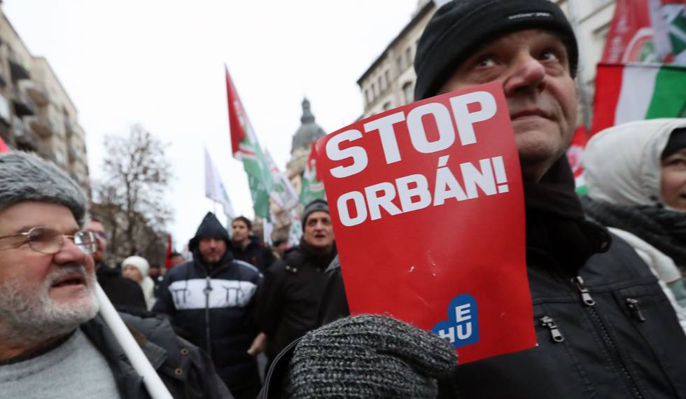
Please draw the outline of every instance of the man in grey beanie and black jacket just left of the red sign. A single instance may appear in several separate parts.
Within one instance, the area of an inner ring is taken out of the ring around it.
[[[267,336],[265,353],[274,357],[315,328],[323,272],[336,256],[328,204],[314,200],[302,214],[302,239],[267,270],[260,289],[258,318]]]

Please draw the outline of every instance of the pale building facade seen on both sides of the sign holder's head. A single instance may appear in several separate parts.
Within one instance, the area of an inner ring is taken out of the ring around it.
[[[601,59],[614,0],[553,0],[568,15],[580,50],[580,123],[588,122],[593,99],[596,64]],[[414,54],[421,33],[433,13],[435,3],[417,1],[411,20],[372,62],[357,81],[363,98],[362,118],[414,101]]]

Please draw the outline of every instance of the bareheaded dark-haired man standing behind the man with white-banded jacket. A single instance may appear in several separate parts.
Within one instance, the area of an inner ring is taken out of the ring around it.
[[[264,273],[274,263],[274,255],[269,248],[260,244],[257,237],[251,235],[253,223],[245,216],[238,216],[231,221],[231,252],[237,260],[244,260]]]

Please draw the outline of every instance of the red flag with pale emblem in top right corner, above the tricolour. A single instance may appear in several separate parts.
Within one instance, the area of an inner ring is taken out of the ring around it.
[[[617,0],[602,62],[686,63],[685,0]]]

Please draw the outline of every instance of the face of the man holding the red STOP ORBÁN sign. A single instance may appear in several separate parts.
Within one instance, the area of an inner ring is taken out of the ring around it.
[[[503,83],[524,180],[540,180],[564,153],[576,126],[576,90],[565,46],[540,29],[505,34],[460,64],[440,92],[489,82]]]

